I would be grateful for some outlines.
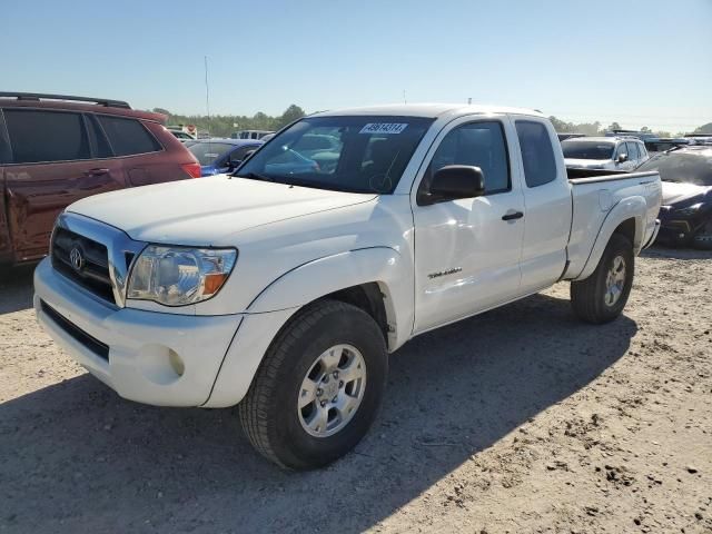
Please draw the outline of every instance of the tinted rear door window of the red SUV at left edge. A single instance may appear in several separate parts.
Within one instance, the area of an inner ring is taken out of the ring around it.
[[[38,164],[89,159],[89,141],[80,113],[6,109],[12,162]]]

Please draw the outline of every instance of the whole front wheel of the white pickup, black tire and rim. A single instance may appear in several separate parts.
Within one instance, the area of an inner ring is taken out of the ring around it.
[[[338,360],[337,366],[326,365],[327,358]],[[358,373],[363,377],[343,384],[334,378],[334,369],[344,379]],[[238,406],[240,423],[257,452],[280,467],[322,467],[348,453],[368,432],[387,374],[386,344],[376,322],[355,306],[317,301],[298,312],[271,343]],[[308,379],[322,387],[305,389]],[[338,405],[332,403],[335,398]],[[299,408],[303,399],[308,404]],[[317,417],[324,411],[328,419]],[[308,426],[310,421],[318,423]],[[323,421],[330,423],[322,425]]]

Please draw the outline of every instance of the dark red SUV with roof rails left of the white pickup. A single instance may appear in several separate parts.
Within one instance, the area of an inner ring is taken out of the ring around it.
[[[118,100],[0,92],[0,264],[44,256],[55,219],[80,198],[199,178],[165,122]]]

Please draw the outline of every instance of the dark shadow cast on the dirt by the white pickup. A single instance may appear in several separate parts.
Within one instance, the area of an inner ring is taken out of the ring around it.
[[[583,325],[567,300],[536,295],[423,335],[392,357],[366,439],[310,473],[263,461],[234,411],[142,406],[82,375],[0,405],[0,522],[53,533],[360,532],[595,379],[636,330],[627,317]]]

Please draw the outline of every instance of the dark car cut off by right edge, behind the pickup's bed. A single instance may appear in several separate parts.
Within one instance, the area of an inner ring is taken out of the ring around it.
[[[712,147],[673,148],[636,170],[657,171],[663,180],[657,240],[712,249]]]

